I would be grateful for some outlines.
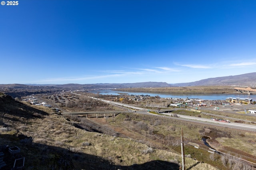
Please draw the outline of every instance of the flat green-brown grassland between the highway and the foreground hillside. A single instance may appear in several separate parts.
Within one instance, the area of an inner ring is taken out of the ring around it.
[[[137,139],[138,141],[144,142],[147,145],[154,146],[154,147],[161,147],[166,145],[167,150],[168,149],[172,150],[173,147],[174,147],[174,150],[176,150],[175,148],[177,147],[175,146],[179,146],[181,127],[183,127],[184,137],[193,139],[194,141],[198,141],[198,143],[201,143],[202,136],[208,136],[211,138],[208,142],[212,147],[216,149],[226,148],[228,152],[234,151],[236,153],[241,153],[242,155],[248,156],[250,158],[253,158],[255,156],[255,149],[254,149],[255,145],[253,143],[253,141],[255,141],[254,133],[250,133],[250,132],[244,133],[243,131],[233,131],[232,129],[226,129],[226,128],[214,127],[214,126],[205,127],[204,125],[202,126],[196,123],[187,123],[187,122],[176,121],[172,119],[166,120],[166,118],[162,119],[159,117],[152,117],[152,116],[149,116],[148,118],[146,117],[147,116],[145,115],[134,114],[134,115],[127,116],[127,114],[122,114],[116,117],[116,120],[114,121],[114,123],[113,122],[109,122],[109,123],[110,124],[113,123],[111,124],[112,126],[119,126],[119,127],[122,126],[124,129],[126,129],[126,131],[122,130],[122,133],[125,133],[127,136],[130,136],[133,139]],[[151,126],[148,125],[148,131],[146,131],[143,128],[139,128],[137,126],[138,123],[134,123],[134,120],[136,120],[136,122],[138,121],[148,122],[148,124]],[[134,128],[133,126],[136,128]],[[128,131],[128,128],[129,128],[129,131]],[[241,136],[241,135],[244,135],[244,136]],[[145,136],[147,136],[147,140]],[[226,141],[219,141],[219,139],[226,139]],[[234,145],[232,145],[231,143],[228,143],[228,141],[236,142],[236,140],[238,141]],[[251,145],[252,143],[253,145]],[[193,145],[196,145],[196,144],[194,143]],[[201,143],[201,145],[203,144]],[[230,148],[227,148],[225,146],[230,146]],[[250,147],[246,149],[247,146],[250,146]],[[233,147],[236,149],[232,149]],[[191,149],[189,148],[190,147],[188,147],[185,150],[185,154],[194,153],[195,158],[197,158],[198,160],[203,160],[204,162],[207,162],[208,164],[212,164],[212,165],[218,164],[218,167],[220,169],[229,169],[228,167],[222,164],[220,157],[214,158],[213,160],[207,160],[205,159],[207,156],[202,156],[202,155],[200,156],[200,152],[196,153],[194,147],[192,147]],[[243,152],[244,150],[250,150],[250,152],[247,152],[247,153]],[[180,152],[179,147],[177,151]],[[215,159],[218,159],[217,161],[218,163],[216,162]],[[253,162],[255,162],[255,160]],[[238,163],[235,163],[235,164],[238,164]],[[235,165],[232,165],[232,167],[234,166]],[[246,167],[246,166],[247,166],[246,164],[243,165],[243,167]]]

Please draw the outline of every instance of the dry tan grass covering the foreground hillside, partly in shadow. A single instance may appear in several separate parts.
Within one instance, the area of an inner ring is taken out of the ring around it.
[[[2,117],[2,121],[7,121],[6,118],[7,115]],[[14,118],[18,119],[13,115],[12,119]],[[26,169],[34,167],[43,170],[52,166],[58,169],[61,167],[58,163],[60,161],[66,162],[69,164],[67,167],[73,167],[73,169],[88,169],[90,167],[137,169],[136,167],[140,164],[147,169],[152,169],[152,161],[161,160],[161,164],[166,164],[165,166],[169,168],[178,166],[181,161],[180,154],[165,150],[153,149],[145,153],[144,150],[148,150],[148,146],[132,139],[77,129],[65,117],[52,113],[40,118],[26,119],[23,122],[12,122],[12,129],[15,130],[3,129],[1,131],[1,143],[10,146],[17,145],[21,148],[21,154],[26,156]],[[21,134],[32,137],[32,143],[27,142],[25,145],[20,145],[15,136]],[[5,135],[12,136],[6,138]],[[11,137],[14,137],[14,140]],[[42,160],[44,160],[44,164],[39,163]],[[190,158],[186,158],[186,160],[188,166],[197,163]],[[95,164],[95,162],[99,163]]]

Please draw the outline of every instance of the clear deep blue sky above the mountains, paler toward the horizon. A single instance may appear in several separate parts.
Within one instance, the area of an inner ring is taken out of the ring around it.
[[[255,9],[256,0],[1,5],[0,84],[172,84],[256,72]]]

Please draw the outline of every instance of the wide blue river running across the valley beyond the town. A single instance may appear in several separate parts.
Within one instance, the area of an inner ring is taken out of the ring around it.
[[[90,91],[92,93],[104,94],[104,95],[149,95],[149,96],[160,96],[161,98],[188,98],[188,99],[203,99],[203,100],[226,100],[226,98],[252,98],[252,101],[256,101],[256,95],[248,94],[167,94],[167,93],[150,93],[150,92],[121,92],[114,90],[96,90]]]

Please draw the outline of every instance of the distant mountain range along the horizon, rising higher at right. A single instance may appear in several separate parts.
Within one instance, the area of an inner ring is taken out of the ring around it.
[[[150,88],[178,86],[256,86],[256,72],[236,76],[207,78],[196,82],[168,84],[166,82],[98,83],[98,84],[0,84],[1,88],[40,88],[55,90],[92,90],[109,88]]]

